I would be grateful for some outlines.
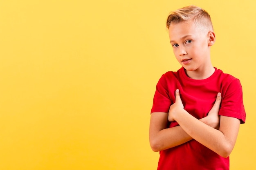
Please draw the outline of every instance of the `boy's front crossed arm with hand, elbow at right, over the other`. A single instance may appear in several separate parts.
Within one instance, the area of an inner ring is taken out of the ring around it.
[[[234,148],[240,127],[240,120],[233,117],[220,116],[219,130],[207,126],[186,110],[178,91],[176,102],[170,107],[169,117],[176,120],[180,127],[193,139],[213,150],[222,157],[228,157]]]

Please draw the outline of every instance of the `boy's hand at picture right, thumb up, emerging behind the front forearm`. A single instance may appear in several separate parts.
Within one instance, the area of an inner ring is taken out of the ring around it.
[[[213,107],[209,111],[207,117],[205,117],[206,124],[215,129],[220,128],[220,116],[219,116],[220,102],[221,102],[221,93],[218,93]]]

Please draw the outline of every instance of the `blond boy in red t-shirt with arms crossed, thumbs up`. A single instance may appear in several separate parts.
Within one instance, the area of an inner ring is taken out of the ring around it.
[[[196,6],[178,9],[166,26],[182,65],[159,79],[149,140],[160,152],[158,170],[229,170],[240,124],[245,123],[239,79],[215,68],[210,15]]]

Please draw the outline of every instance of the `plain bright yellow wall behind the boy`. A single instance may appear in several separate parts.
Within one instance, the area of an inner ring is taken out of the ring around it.
[[[155,170],[155,85],[176,71],[165,19],[206,9],[213,65],[239,78],[231,170],[256,170],[254,0],[1,0],[0,170]]]

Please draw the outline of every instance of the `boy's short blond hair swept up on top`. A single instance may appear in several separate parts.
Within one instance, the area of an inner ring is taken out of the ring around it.
[[[209,13],[194,5],[183,7],[171,12],[166,20],[166,27],[169,29],[171,23],[177,24],[189,20],[193,20],[195,25],[201,30],[213,31],[213,25]]]

